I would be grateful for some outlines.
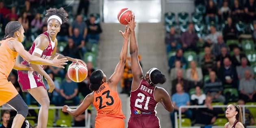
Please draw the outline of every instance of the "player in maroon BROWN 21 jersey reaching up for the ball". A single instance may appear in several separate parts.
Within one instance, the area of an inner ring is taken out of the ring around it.
[[[156,86],[158,83],[165,83],[166,78],[157,68],[151,68],[143,77],[138,59],[134,15],[130,17],[128,23],[130,26],[130,56],[133,75],[130,95],[131,116],[128,121],[128,128],[160,128],[160,121],[156,117],[156,104],[160,102],[167,111],[174,111],[174,106],[167,91]]]

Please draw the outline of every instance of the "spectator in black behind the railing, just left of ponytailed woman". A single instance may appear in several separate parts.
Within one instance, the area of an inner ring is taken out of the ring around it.
[[[217,118],[217,111],[216,108],[213,108],[212,104],[212,97],[206,96],[204,105],[207,108],[199,108],[195,111],[195,125],[194,126],[206,126],[206,125],[213,125]]]

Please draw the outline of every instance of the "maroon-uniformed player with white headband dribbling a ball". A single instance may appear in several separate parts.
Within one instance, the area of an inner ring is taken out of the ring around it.
[[[85,62],[78,59],[73,59],[70,57],[65,57],[61,54],[56,53],[57,47],[57,39],[56,35],[59,33],[61,29],[61,24],[67,22],[68,14],[61,7],[60,9],[48,9],[46,11],[46,19],[47,21],[47,31],[39,35],[30,50],[28,51],[30,54],[35,56],[39,56],[42,59],[52,59],[55,56],[59,56],[59,58],[67,58],[68,61],[81,62],[84,65]],[[24,60],[22,65],[29,65],[29,63]],[[46,78],[49,85],[49,92],[54,90],[54,82],[50,78],[50,76],[43,70],[44,65],[33,65],[34,71],[18,71],[18,82],[22,88],[22,91],[28,91],[37,102],[41,105],[38,114],[38,128],[46,128],[48,121],[48,109],[50,106],[50,99],[48,97],[48,93],[43,84],[43,76]]]

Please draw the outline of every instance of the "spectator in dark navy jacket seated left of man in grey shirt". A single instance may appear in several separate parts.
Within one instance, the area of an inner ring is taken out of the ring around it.
[[[238,79],[236,68],[228,57],[224,59],[223,63],[224,65],[218,70],[218,78],[222,81],[223,85],[232,85],[232,87],[236,88]]]

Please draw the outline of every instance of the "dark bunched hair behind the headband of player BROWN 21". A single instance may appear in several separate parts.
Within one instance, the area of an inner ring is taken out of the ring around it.
[[[158,69],[154,70],[151,74],[150,74],[150,80],[151,82],[156,85],[158,83],[163,84],[166,82],[166,78],[165,75],[162,74]]]

